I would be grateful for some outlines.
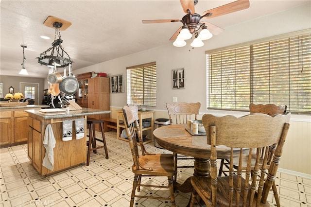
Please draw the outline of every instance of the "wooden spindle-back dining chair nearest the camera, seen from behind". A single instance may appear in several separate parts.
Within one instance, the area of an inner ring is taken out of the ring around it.
[[[282,148],[289,129],[291,114],[269,116],[249,114],[241,118],[234,116],[215,117],[205,114],[202,117],[207,132],[207,144],[210,144],[210,177],[191,177],[193,191],[190,206],[202,201],[208,207],[229,207],[255,205],[270,207],[267,202],[269,191],[276,177],[282,155]],[[261,152],[276,144],[272,162],[267,167],[269,151],[266,150],[263,162]],[[231,148],[228,176],[217,176],[217,146]],[[233,149],[240,149],[240,155],[234,157]],[[256,161],[252,163],[253,152],[257,151]],[[243,160],[244,154],[248,155]],[[233,167],[233,159],[238,158],[238,170]],[[243,170],[246,166],[245,170]],[[268,173],[267,173],[268,172]],[[260,176],[259,176],[260,175]]]

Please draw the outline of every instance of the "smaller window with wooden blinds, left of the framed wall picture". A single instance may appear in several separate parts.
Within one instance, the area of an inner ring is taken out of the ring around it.
[[[156,63],[127,67],[127,104],[156,105]]]

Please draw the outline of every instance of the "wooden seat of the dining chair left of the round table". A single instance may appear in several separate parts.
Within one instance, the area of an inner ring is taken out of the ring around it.
[[[132,170],[134,173],[149,175],[160,174],[161,176],[172,176],[175,174],[174,156],[172,154],[140,155],[138,160],[142,168],[152,170],[138,170],[137,167],[133,165]],[[161,164],[159,165],[159,163]],[[167,173],[167,175],[164,175],[164,173]]]

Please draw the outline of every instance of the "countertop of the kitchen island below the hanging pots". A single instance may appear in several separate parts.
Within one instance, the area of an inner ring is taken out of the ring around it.
[[[25,111],[28,113],[31,113],[37,117],[40,117],[41,119],[72,118],[72,117],[111,113],[111,111],[103,111],[100,109],[92,109],[92,108],[82,108],[82,110],[69,111],[69,114],[67,114],[66,112],[42,113],[42,112],[40,112],[40,109],[29,109],[29,110],[25,110]]]

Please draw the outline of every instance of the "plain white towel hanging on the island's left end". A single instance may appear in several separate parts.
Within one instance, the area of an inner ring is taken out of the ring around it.
[[[49,170],[53,170],[54,167],[54,147],[56,140],[53,134],[51,124],[48,124],[45,128],[43,146],[45,147],[45,156],[43,158],[42,165]]]

